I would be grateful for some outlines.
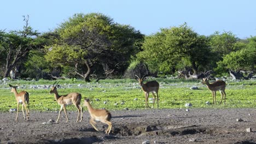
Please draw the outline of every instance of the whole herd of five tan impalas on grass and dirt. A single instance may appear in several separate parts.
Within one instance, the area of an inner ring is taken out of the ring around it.
[[[149,107],[148,105],[148,96],[149,93],[151,92],[154,98],[153,101],[153,108],[154,108],[154,103],[155,99],[157,100],[157,103],[159,101],[158,97],[158,90],[159,90],[159,83],[157,81],[148,81],[146,83],[143,83],[145,76],[140,78],[139,76],[135,75],[137,77],[137,80],[139,82],[139,85],[141,86],[142,90],[145,93],[145,101],[146,101],[146,109]],[[59,81],[60,82],[60,81]],[[54,94],[55,100],[57,103],[61,106],[60,111],[59,111],[59,116],[57,118],[57,122],[59,122],[60,119],[60,114],[61,111],[64,110],[65,115],[66,115],[66,122],[68,122],[68,116],[67,116],[67,111],[66,111],[66,106],[67,105],[74,105],[78,109],[78,116],[77,116],[77,122],[83,121],[83,107],[80,104],[82,95],[80,93],[69,93],[65,95],[59,95],[57,92],[57,86],[59,82],[55,82],[53,84],[53,87],[50,90],[50,94]],[[226,93],[225,93],[225,87],[226,83],[225,81],[218,80],[213,83],[209,83],[208,78],[202,79],[202,84],[206,84],[207,88],[212,91],[212,98],[213,98],[213,104],[216,104],[216,91],[220,91],[220,94],[222,94],[222,98],[220,100],[220,103],[222,103],[223,95],[224,95],[224,104],[226,103]],[[11,92],[14,93],[16,101],[17,101],[17,115],[16,115],[16,121],[18,119],[18,113],[19,113],[19,104],[22,104],[22,113],[24,116],[24,119],[27,121],[30,119],[30,110],[29,110],[29,94],[26,91],[21,91],[20,93],[17,92],[16,88],[18,86],[12,86],[9,84],[11,87]],[[156,95],[155,95],[156,94]],[[110,119],[112,118],[111,113],[107,110],[104,109],[94,109],[91,104],[89,103],[89,99],[84,100],[84,106],[88,108],[88,112],[90,114],[90,124],[92,127],[98,131],[98,129],[95,127],[96,122],[95,121],[100,121],[102,123],[108,124],[108,128],[106,130],[106,134],[110,133],[110,130],[112,128],[112,123],[110,122]],[[26,110],[26,117],[24,113],[24,107]],[[159,107],[159,103],[158,103]]]

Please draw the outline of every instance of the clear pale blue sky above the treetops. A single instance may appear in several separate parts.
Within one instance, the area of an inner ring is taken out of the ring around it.
[[[33,29],[47,32],[75,13],[102,13],[146,35],[187,22],[201,35],[231,31],[243,39],[256,35],[255,5],[254,0],[9,0],[1,2],[0,29],[21,29],[22,15],[30,15]]]

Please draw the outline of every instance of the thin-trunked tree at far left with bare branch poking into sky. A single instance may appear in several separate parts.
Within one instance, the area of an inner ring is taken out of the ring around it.
[[[22,31],[1,34],[0,47],[6,54],[3,77],[7,77],[12,69],[26,60],[31,50],[37,48],[36,37],[39,33],[28,26],[29,16],[23,17],[25,26]]]

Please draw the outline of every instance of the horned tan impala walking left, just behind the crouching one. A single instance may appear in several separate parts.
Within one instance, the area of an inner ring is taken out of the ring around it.
[[[57,82],[57,84],[55,86],[54,86],[54,84],[56,82],[54,82],[53,88],[51,88],[51,91],[50,91],[50,94],[54,93],[55,100],[61,106],[60,111],[59,111],[59,116],[57,118],[56,123],[59,122],[60,113],[61,113],[62,109],[64,109],[64,112],[65,112],[65,115],[66,115],[66,118],[67,118],[67,122],[68,122],[66,105],[72,105],[72,104],[75,105],[75,107],[77,107],[77,109],[78,109],[77,122],[79,121],[80,114],[81,114],[80,122],[82,122],[82,120],[83,120],[83,107],[80,105],[82,95],[80,93],[69,93],[69,94],[66,94],[66,95],[59,95],[58,92],[57,92],[57,85],[58,85],[59,82]]]

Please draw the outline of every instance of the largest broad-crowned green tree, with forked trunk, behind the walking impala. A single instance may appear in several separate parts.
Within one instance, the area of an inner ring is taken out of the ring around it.
[[[143,35],[133,27],[114,23],[110,17],[98,13],[76,14],[56,31],[60,33],[62,44],[55,46],[64,46],[58,52],[59,57],[70,58],[67,63],[73,65],[74,72],[85,81],[90,81],[93,70],[100,75],[106,74],[104,68],[124,71],[131,56],[139,49],[137,42],[143,39]],[[46,59],[57,64],[60,61],[50,58],[55,50],[53,46]]]

